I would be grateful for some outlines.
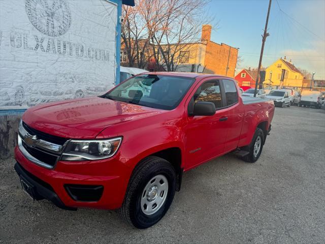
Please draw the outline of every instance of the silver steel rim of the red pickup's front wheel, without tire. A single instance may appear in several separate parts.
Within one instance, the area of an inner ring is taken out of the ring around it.
[[[162,175],[152,177],[141,195],[141,210],[145,215],[153,215],[164,205],[168,194],[168,180]]]

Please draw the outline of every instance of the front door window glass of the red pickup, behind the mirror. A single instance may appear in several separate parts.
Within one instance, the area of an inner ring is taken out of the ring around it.
[[[219,81],[212,80],[203,83],[194,94],[194,103],[199,101],[214,103],[216,109],[222,107]]]

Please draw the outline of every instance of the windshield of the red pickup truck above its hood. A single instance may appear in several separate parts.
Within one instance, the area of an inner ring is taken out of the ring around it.
[[[128,79],[102,97],[172,110],[178,106],[193,82],[193,78],[144,74]]]

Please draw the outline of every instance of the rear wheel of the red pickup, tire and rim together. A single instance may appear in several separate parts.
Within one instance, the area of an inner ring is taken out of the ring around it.
[[[243,159],[249,163],[255,163],[259,156],[261,156],[262,149],[264,144],[264,132],[262,129],[256,128],[253,139],[248,146],[249,154],[246,155]]]

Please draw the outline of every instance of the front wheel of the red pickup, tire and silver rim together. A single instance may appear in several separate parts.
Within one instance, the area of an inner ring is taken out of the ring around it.
[[[164,217],[175,189],[174,167],[164,159],[150,156],[134,170],[119,214],[136,228],[148,228]]]

